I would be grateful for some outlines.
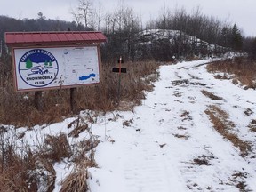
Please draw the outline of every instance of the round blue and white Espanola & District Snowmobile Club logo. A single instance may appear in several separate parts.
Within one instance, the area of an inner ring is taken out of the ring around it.
[[[44,87],[55,80],[59,65],[51,52],[34,49],[26,52],[19,61],[21,79],[34,87]]]

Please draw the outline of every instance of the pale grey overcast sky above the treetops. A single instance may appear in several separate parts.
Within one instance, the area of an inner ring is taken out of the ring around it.
[[[116,9],[120,0],[92,0],[102,4],[104,12]],[[43,12],[47,19],[74,20],[70,9],[76,7],[77,0],[0,0],[0,15],[14,18],[36,19],[38,12]],[[256,36],[256,0],[124,0],[145,22],[159,15],[161,8],[171,10],[184,7],[191,12],[198,5],[208,16],[236,23],[245,36]],[[1,26],[0,26],[1,28]]]

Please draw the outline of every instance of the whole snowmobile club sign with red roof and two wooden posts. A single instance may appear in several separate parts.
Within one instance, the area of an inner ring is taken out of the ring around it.
[[[6,32],[15,90],[35,92],[35,107],[42,110],[44,90],[70,89],[75,110],[76,87],[100,83],[100,44],[106,40],[89,31]]]

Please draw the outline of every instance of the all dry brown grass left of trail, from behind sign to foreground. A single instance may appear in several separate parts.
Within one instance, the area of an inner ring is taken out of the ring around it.
[[[4,81],[1,79],[0,191],[52,191],[56,182],[53,164],[63,159],[75,165],[70,174],[63,178],[60,191],[88,190],[87,168],[97,167],[93,148],[99,143],[90,133],[89,124],[97,118],[97,111],[132,110],[140,105],[145,92],[154,88],[152,82],[158,78],[159,64],[155,61],[128,62],[123,66],[127,68],[127,73],[121,74],[118,92],[119,75],[112,73],[115,65],[102,65],[100,84],[76,88],[76,113],[88,109],[96,111],[95,114],[86,114],[85,118],[78,116],[68,124],[68,134],[52,136],[36,133],[37,140],[33,146],[23,139],[25,133],[18,135],[14,131],[11,135],[9,128],[1,124],[12,124],[14,130],[19,127],[32,129],[36,124],[45,126],[74,116],[69,106],[70,92],[68,89],[43,92],[43,110],[39,111],[34,105],[33,92],[14,92],[11,77]],[[130,124],[132,121],[123,125]],[[76,141],[81,132],[87,132],[90,138]],[[39,140],[44,142],[39,143]]]

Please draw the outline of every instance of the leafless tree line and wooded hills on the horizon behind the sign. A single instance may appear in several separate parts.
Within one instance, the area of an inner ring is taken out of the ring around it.
[[[126,60],[132,61],[168,61],[172,59],[173,54],[178,53],[182,58],[194,56],[195,52],[191,51],[193,46],[190,50],[181,48],[187,46],[186,42],[184,43],[182,34],[184,36],[193,36],[195,40],[199,38],[209,44],[220,45],[236,52],[247,52],[250,57],[254,57],[256,52],[255,36],[243,36],[236,23],[205,15],[199,6],[191,12],[188,12],[185,8],[171,10],[169,7],[164,6],[158,16],[147,23],[142,23],[140,16],[125,4],[121,4],[112,12],[106,12],[102,10],[100,5],[98,7],[94,6],[92,0],[78,0],[76,8],[72,9],[69,14],[72,14],[74,21],[47,19],[43,12],[38,12],[36,19],[13,19],[0,15],[1,61],[4,62],[3,57],[6,53],[4,33],[7,31],[100,30],[108,37],[108,43],[102,46],[102,59],[106,62],[116,60],[116,57],[118,58],[120,55],[123,55]],[[145,49],[144,52],[148,53],[144,54],[143,57],[138,57],[136,55],[138,44],[143,43],[143,38],[145,37],[140,36],[140,32],[150,29],[162,29],[164,32],[165,30],[180,31],[180,37],[177,39],[180,43],[174,44],[180,47],[180,52],[177,48],[174,49],[170,39],[168,41],[168,37],[164,36],[164,38],[151,42],[153,47],[149,50],[145,44],[144,47],[140,46],[140,49]],[[164,50],[168,49],[172,49],[172,51],[164,52]],[[163,51],[157,52],[157,50]]]

